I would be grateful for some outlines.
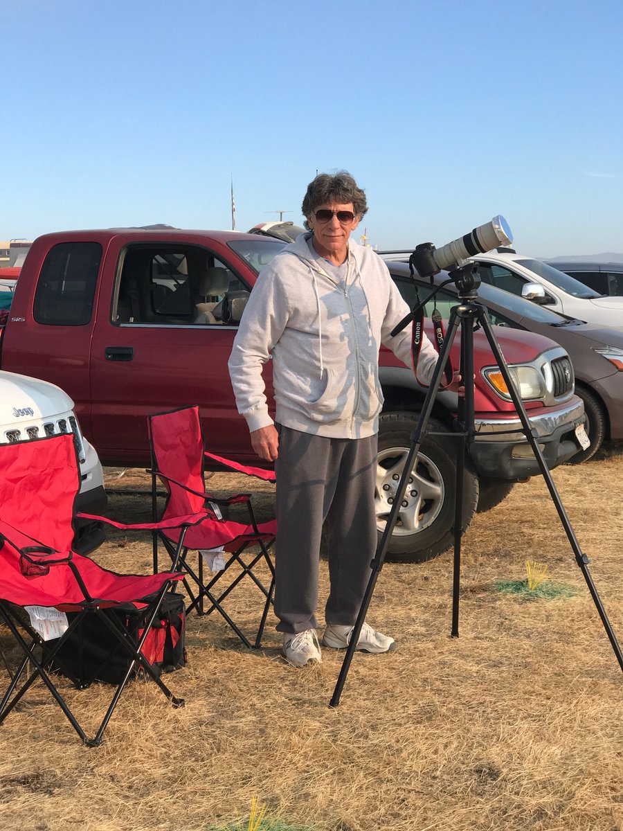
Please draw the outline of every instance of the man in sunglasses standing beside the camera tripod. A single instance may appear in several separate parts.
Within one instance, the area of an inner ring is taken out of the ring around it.
[[[409,307],[378,254],[350,239],[367,209],[346,171],[313,179],[302,203],[311,233],[262,268],[229,358],[253,450],[275,463],[275,613],[282,654],[293,666],[321,661],[316,604],[325,521],[331,592],[322,643],[348,646],[376,547],[380,345],[412,366],[411,327],[390,337]],[[270,356],[276,425],[262,381]],[[425,381],[436,361],[424,335],[418,371]],[[395,641],[365,623],[357,648],[391,652]]]

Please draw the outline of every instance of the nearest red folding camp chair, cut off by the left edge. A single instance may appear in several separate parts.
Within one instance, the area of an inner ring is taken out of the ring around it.
[[[41,679],[81,740],[95,746],[101,743],[127,682],[139,669],[155,681],[174,707],[184,706],[184,700],[173,696],[142,651],[164,594],[183,575],[176,572],[176,563],[171,573],[117,574],[73,552],[74,504],[79,489],[80,469],[72,435],[0,445],[0,620],[23,652],[0,702],[0,724]],[[133,624],[132,632],[124,625],[123,616],[110,613],[129,603],[137,608],[140,624]],[[48,640],[37,617],[45,621],[55,612],[75,614],[70,615],[68,624],[61,620],[68,627],[60,637]],[[74,686],[88,684],[64,666],[61,658],[71,638],[76,642],[87,616],[99,619],[107,635],[110,632],[108,638],[113,638],[115,650],[127,658],[125,676],[91,739],[51,677],[52,670],[59,669]]]

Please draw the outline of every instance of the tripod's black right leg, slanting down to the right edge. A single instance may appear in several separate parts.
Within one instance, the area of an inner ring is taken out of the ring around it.
[[[526,434],[526,438],[532,447],[532,452],[537,458],[537,463],[539,469],[541,470],[543,479],[545,479],[545,483],[547,484],[547,489],[552,496],[552,501],[556,506],[558,516],[560,517],[562,527],[565,529],[565,534],[567,534],[567,539],[569,543],[571,543],[571,548],[573,553],[576,555],[576,563],[581,569],[581,573],[584,575],[584,579],[586,580],[586,585],[588,586],[588,590],[591,593],[591,597],[593,602],[595,603],[597,612],[599,613],[599,617],[601,617],[601,622],[606,629],[606,634],[608,639],[611,642],[611,647],[615,653],[616,660],[619,661],[619,666],[623,670],[623,654],[621,654],[621,647],[616,640],[615,633],[612,631],[611,623],[608,620],[608,616],[606,615],[606,610],[601,604],[601,600],[597,590],[595,588],[595,583],[591,578],[591,573],[588,570],[588,563],[589,559],[586,557],[586,554],[582,552],[580,548],[580,543],[578,543],[576,534],[573,531],[571,526],[571,521],[567,515],[567,511],[562,504],[562,499],[560,498],[560,494],[558,493],[557,487],[554,484],[554,480],[552,479],[552,474],[547,467],[547,463],[543,458],[541,448],[538,446],[537,441],[537,432],[532,428],[530,424],[530,420],[527,417],[526,408],[523,406],[523,402],[519,397],[518,391],[515,389],[513,379],[510,376],[510,372],[508,371],[508,365],[504,360],[504,356],[502,354],[502,349],[496,340],[495,334],[493,332],[493,327],[491,325],[491,321],[488,318],[488,314],[485,311],[484,307],[479,307],[478,311],[478,321],[480,322],[481,326],[483,327],[483,331],[487,336],[487,340],[489,342],[489,346],[493,352],[493,355],[498,361],[498,366],[500,371],[502,372],[502,376],[504,381],[506,381],[506,386],[508,386],[508,391],[510,392],[511,398],[513,399],[513,404],[515,409],[518,412],[518,416],[522,422],[524,433]]]

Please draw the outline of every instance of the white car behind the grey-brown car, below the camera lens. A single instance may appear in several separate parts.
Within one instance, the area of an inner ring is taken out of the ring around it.
[[[478,263],[483,283],[569,317],[623,329],[623,297],[603,297],[558,268],[510,251],[489,251],[471,259]]]

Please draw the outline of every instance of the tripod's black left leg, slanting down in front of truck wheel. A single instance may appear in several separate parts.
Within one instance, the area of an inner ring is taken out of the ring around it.
[[[359,641],[359,636],[361,635],[361,627],[363,626],[365,615],[368,611],[368,607],[370,606],[370,600],[372,599],[372,594],[375,590],[376,580],[379,576],[381,568],[383,568],[383,563],[385,562],[385,555],[390,546],[391,535],[394,532],[396,520],[398,519],[400,504],[402,503],[402,500],[405,499],[405,492],[407,484],[409,483],[410,473],[418,455],[419,445],[422,443],[422,435],[426,429],[426,425],[429,423],[429,419],[433,411],[434,400],[437,396],[437,392],[439,391],[439,381],[441,381],[445,366],[448,363],[450,348],[454,343],[454,338],[456,337],[458,328],[459,317],[457,316],[455,310],[453,310],[448,323],[448,334],[444,340],[444,346],[442,347],[441,352],[439,352],[439,358],[434,368],[433,377],[430,379],[429,389],[426,393],[426,397],[424,398],[422,412],[419,415],[418,423],[415,426],[415,430],[411,438],[411,446],[405,460],[405,468],[400,476],[400,483],[398,484],[398,489],[395,494],[395,501],[391,506],[390,516],[385,524],[385,531],[380,539],[380,545],[379,548],[377,548],[375,558],[370,563],[372,573],[370,574],[368,585],[365,588],[364,598],[361,602],[355,627],[353,628],[353,632],[351,634],[351,642],[346,648],[346,655],[344,656],[344,661],[342,661],[340,675],[337,678],[336,687],[333,691],[331,701],[329,702],[330,707],[336,707],[340,704],[341,691],[344,688],[346,676],[351,666],[352,657],[356,651],[357,642]]]

